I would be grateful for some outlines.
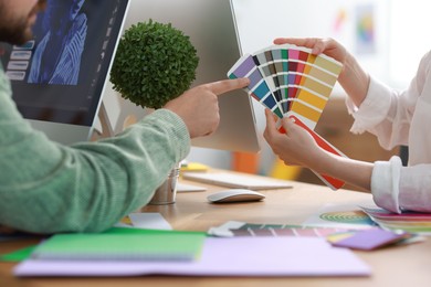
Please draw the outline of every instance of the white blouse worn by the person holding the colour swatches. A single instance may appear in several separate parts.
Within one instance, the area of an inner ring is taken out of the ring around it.
[[[371,193],[377,205],[392,211],[431,212],[431,52],[419,65],[407,91],[398,92],[371,78],[360,107],[347,98],[355,123],[350,131],[369,131],[391,149],[409,147],[409,164],[399,157],[376,161]],[[430,125],[430,126],[429,126]]]

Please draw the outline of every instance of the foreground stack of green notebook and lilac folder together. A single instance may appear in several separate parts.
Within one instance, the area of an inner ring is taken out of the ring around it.
[[[139,214],[136,214],[139,215]],[[132,216],[136,222],[136,219]],[[203,232],[113,227],[59,234],[25,249],[25,276],[369,276],[351,251],[324,237],[208,237]],[[17,254],[14,254],[17,255]]]

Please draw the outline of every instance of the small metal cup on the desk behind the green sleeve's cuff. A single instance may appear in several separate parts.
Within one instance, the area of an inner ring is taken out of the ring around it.
[[[153,199],[148,204],[151,205],[164,205],[174,204],[177,196],[177,182],[179,178],[180,167],[175,167],[168,174],[165,182],[157,188]]]

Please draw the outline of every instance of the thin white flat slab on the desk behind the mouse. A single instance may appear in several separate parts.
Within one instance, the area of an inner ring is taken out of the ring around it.
[[[182,178],[231,189],[269,190],[293,188],[292,183],[285,180],[230,172],[185,172]]]

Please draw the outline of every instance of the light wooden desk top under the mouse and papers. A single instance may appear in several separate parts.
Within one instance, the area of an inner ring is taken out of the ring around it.
[[[262,202],[210,204],[207,195],[222,190],[202,183],[183,181],[187,184],[207,187],[206,192],[177,194],[171,205],[149,205],[148,212],[160,212],[176,230],[208,231],[227,221],[248,223],[301,224],[325,204],[356,204],[371,200],[370,194],[348,190],[332,191],[326,187],[294,182],[293,189],[262,191]],[[0,243],[0,254],[35,243],[34,240]],[[389,247],[374,252],[356,252],[371,266],[370,277],[315,277],[315,278],[230,278],[230,277],[175,277],[147,276],[128,278],[15,278],[15,264],[0,262],[0,286],[429,286],[431,283],[431,241],[408,246]]]

